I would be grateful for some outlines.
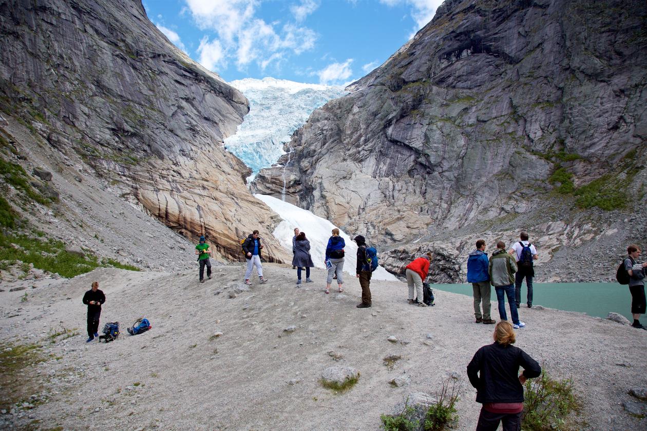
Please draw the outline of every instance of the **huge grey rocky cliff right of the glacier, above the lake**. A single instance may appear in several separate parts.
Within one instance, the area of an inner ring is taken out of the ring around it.
[[[608,279],[644,227],[646,22],[644,1],[448,0],[295,132],[287,198],[399,247],[395,271],[433,249],[460,280],[478,237],[527,229],[540,264],[611,237],[557,277]],[[256,182],[279,196],[283,169]]]

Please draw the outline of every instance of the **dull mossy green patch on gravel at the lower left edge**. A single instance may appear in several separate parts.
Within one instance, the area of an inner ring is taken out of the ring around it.
[[[37,344],[0,342],[0,408],[9,410],[41,388],[32,381],[30,371],[47,357]]]

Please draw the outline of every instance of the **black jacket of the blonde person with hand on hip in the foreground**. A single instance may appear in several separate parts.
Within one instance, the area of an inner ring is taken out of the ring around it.
[[[511,344],[503,346],[494,342],[477,350],[467,366],[467,377],[476,388],[476,402],[523,403],[520,366],[529,379],[542,373],[537,361]]]

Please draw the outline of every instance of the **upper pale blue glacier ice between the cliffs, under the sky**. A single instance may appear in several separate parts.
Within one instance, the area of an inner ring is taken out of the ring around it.
[[[347,94],[343,87],[275,78],[238,79],[229,84],[245,94],[249,113],[236,134],[225,139],[225,149],[252,169],[249,179],[285,154],[283,144],[315,109]]]

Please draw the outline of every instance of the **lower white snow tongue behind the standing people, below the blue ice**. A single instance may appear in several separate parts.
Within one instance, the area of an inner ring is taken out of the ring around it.
[[[288,250],[292,250],[292,237],[294,237],[294,228],[298,227],[302,232],[305,232],[305,237],[310,241],[310,255],[313,258],[313,263],[316,268],[325,268],[325,247],[328,245],[328,238],[332,235],[331,231],[334,226],[325,218],[314,215],[307,209],[302,209],[296,205],[289,204],[283,200],[277,199],[274,196],[267,194],[254,194],[254,197],[265,202],[267,206],[272,208],[283,221],[276,226],[272,233],[279,241],[281,246]],[[344,258],[344,272],[355,277],[355,265],[357,264],[357,244],[351,237],[347,235],[342,229],[339,233],[340,237],[344,238],[345,258]],[[377,253],[380,256],[380,251]],[[395,275],[389,273],[386,269],[379,266],[373,272],[371,277],[375,280],[391,280],[397,281]]]

